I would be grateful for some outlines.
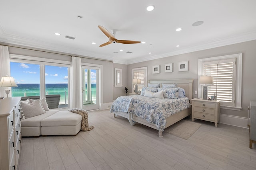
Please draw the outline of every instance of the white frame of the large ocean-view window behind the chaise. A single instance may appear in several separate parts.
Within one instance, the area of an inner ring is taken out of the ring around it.
[[[64,66],[71,67],[70,61],[60,61],[55,59],[46,59],[41,57],[32,57],[26,55],[16,55],[10,54],[10,62],[15,63],[28,63],[28,64],[38,64],[40,65],[40,85],[45,84],[45,68],[44,65],[50,66]],[[68,69],[68,85],[70,83],[70,69]],[[70,94],[70,88],[68,88],[68,94]],[[70,95],[68,95],[70,96]],[[45,86],[40,86],[40,98],[45,98]],[[70,104],[68,97],[68,104]]]

